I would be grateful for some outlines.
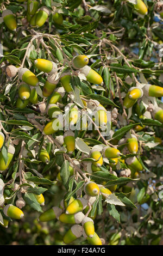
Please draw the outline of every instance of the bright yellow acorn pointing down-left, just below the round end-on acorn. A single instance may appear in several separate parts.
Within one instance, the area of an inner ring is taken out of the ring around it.
[[[76,214],[77,212],[82,211],[86,208],[87,202],[88,200],[83,197],[73,200],[73,202],[67,206],[66,214]]]

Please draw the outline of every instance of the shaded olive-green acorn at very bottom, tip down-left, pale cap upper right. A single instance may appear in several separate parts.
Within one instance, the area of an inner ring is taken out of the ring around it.
[[[64,243],[66,243],[67,245],[68,243],[73,242],[74,240],[82,236],[82,231],[83,231],[82,226],[80,226],[79,224],[73,225],[71,229],[69,229],[65,234],[63,238]]]

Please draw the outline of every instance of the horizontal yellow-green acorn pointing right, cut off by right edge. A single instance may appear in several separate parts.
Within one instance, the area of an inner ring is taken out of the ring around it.
[[[143,92],[146,96],[152,96],[152,97],[163,96],[163,88],[160,86],[152,86],[151,84],[146,84],[146,86],[143,87]]]

